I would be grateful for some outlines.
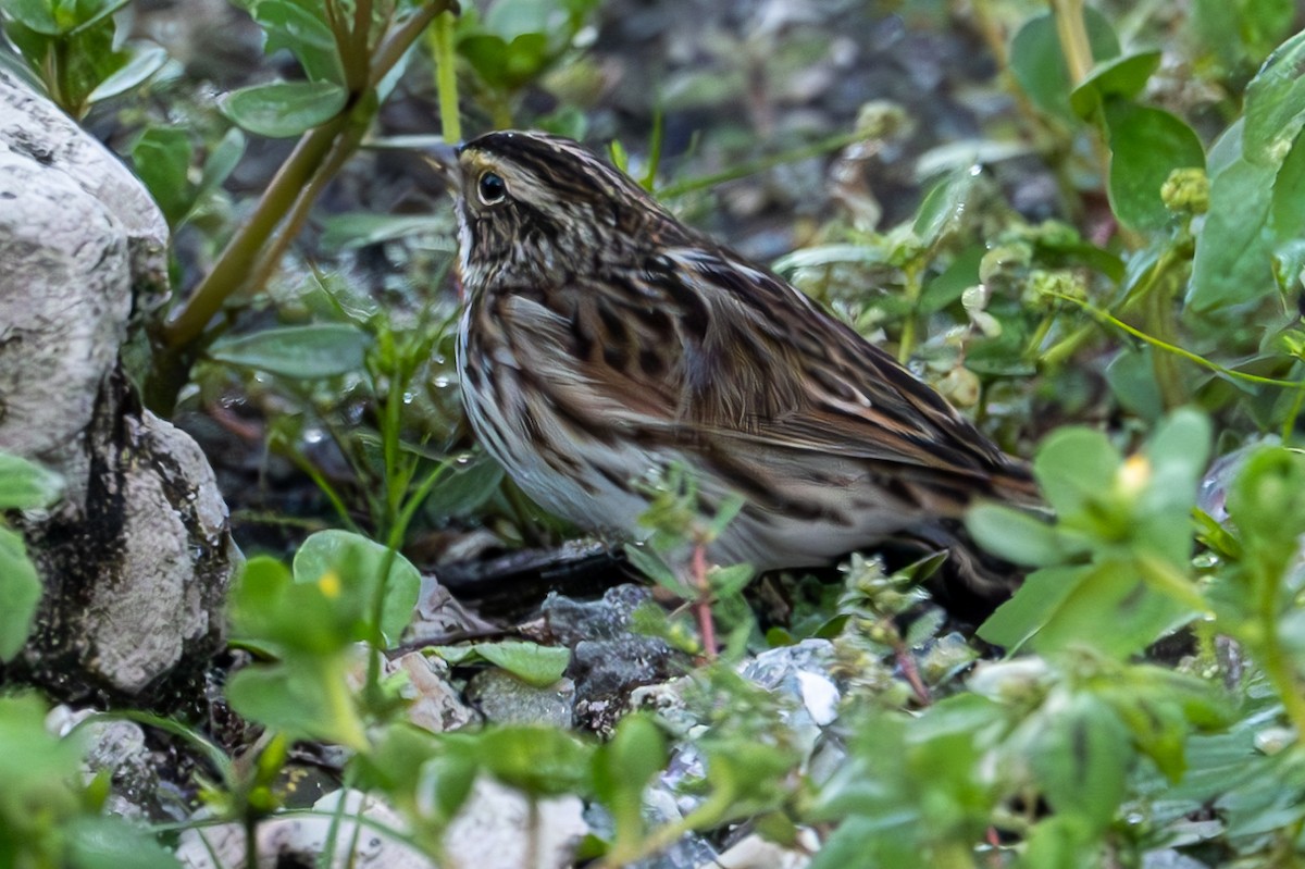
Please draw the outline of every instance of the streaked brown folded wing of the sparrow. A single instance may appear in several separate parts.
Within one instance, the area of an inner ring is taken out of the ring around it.
[[[934,501],[984,491],[1036,500],[1024,465],[891,356],[773,273],[728,257],[672,249],[603,288],[577,279],[565,294],[499,296],[499,316],[509,334],[532,335],[519,359],[595,433],[864,461],[874,476],[933,488]],[[924,489],[917,500],[929,501]]]

